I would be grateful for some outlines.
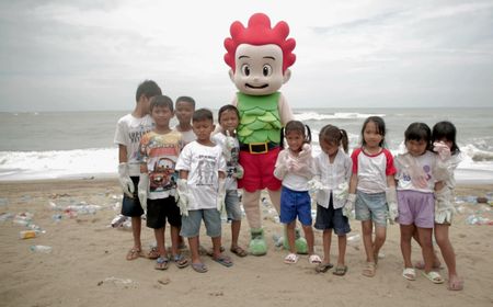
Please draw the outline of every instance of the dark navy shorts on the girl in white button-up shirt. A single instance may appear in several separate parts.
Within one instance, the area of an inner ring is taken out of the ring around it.
[[[313,227],[319,230],[334,229],[337,236],[351,232],[349,220],[342,214],[342,208],[334,209],[332,194],[328,208],[317,204],[317,218]]]

